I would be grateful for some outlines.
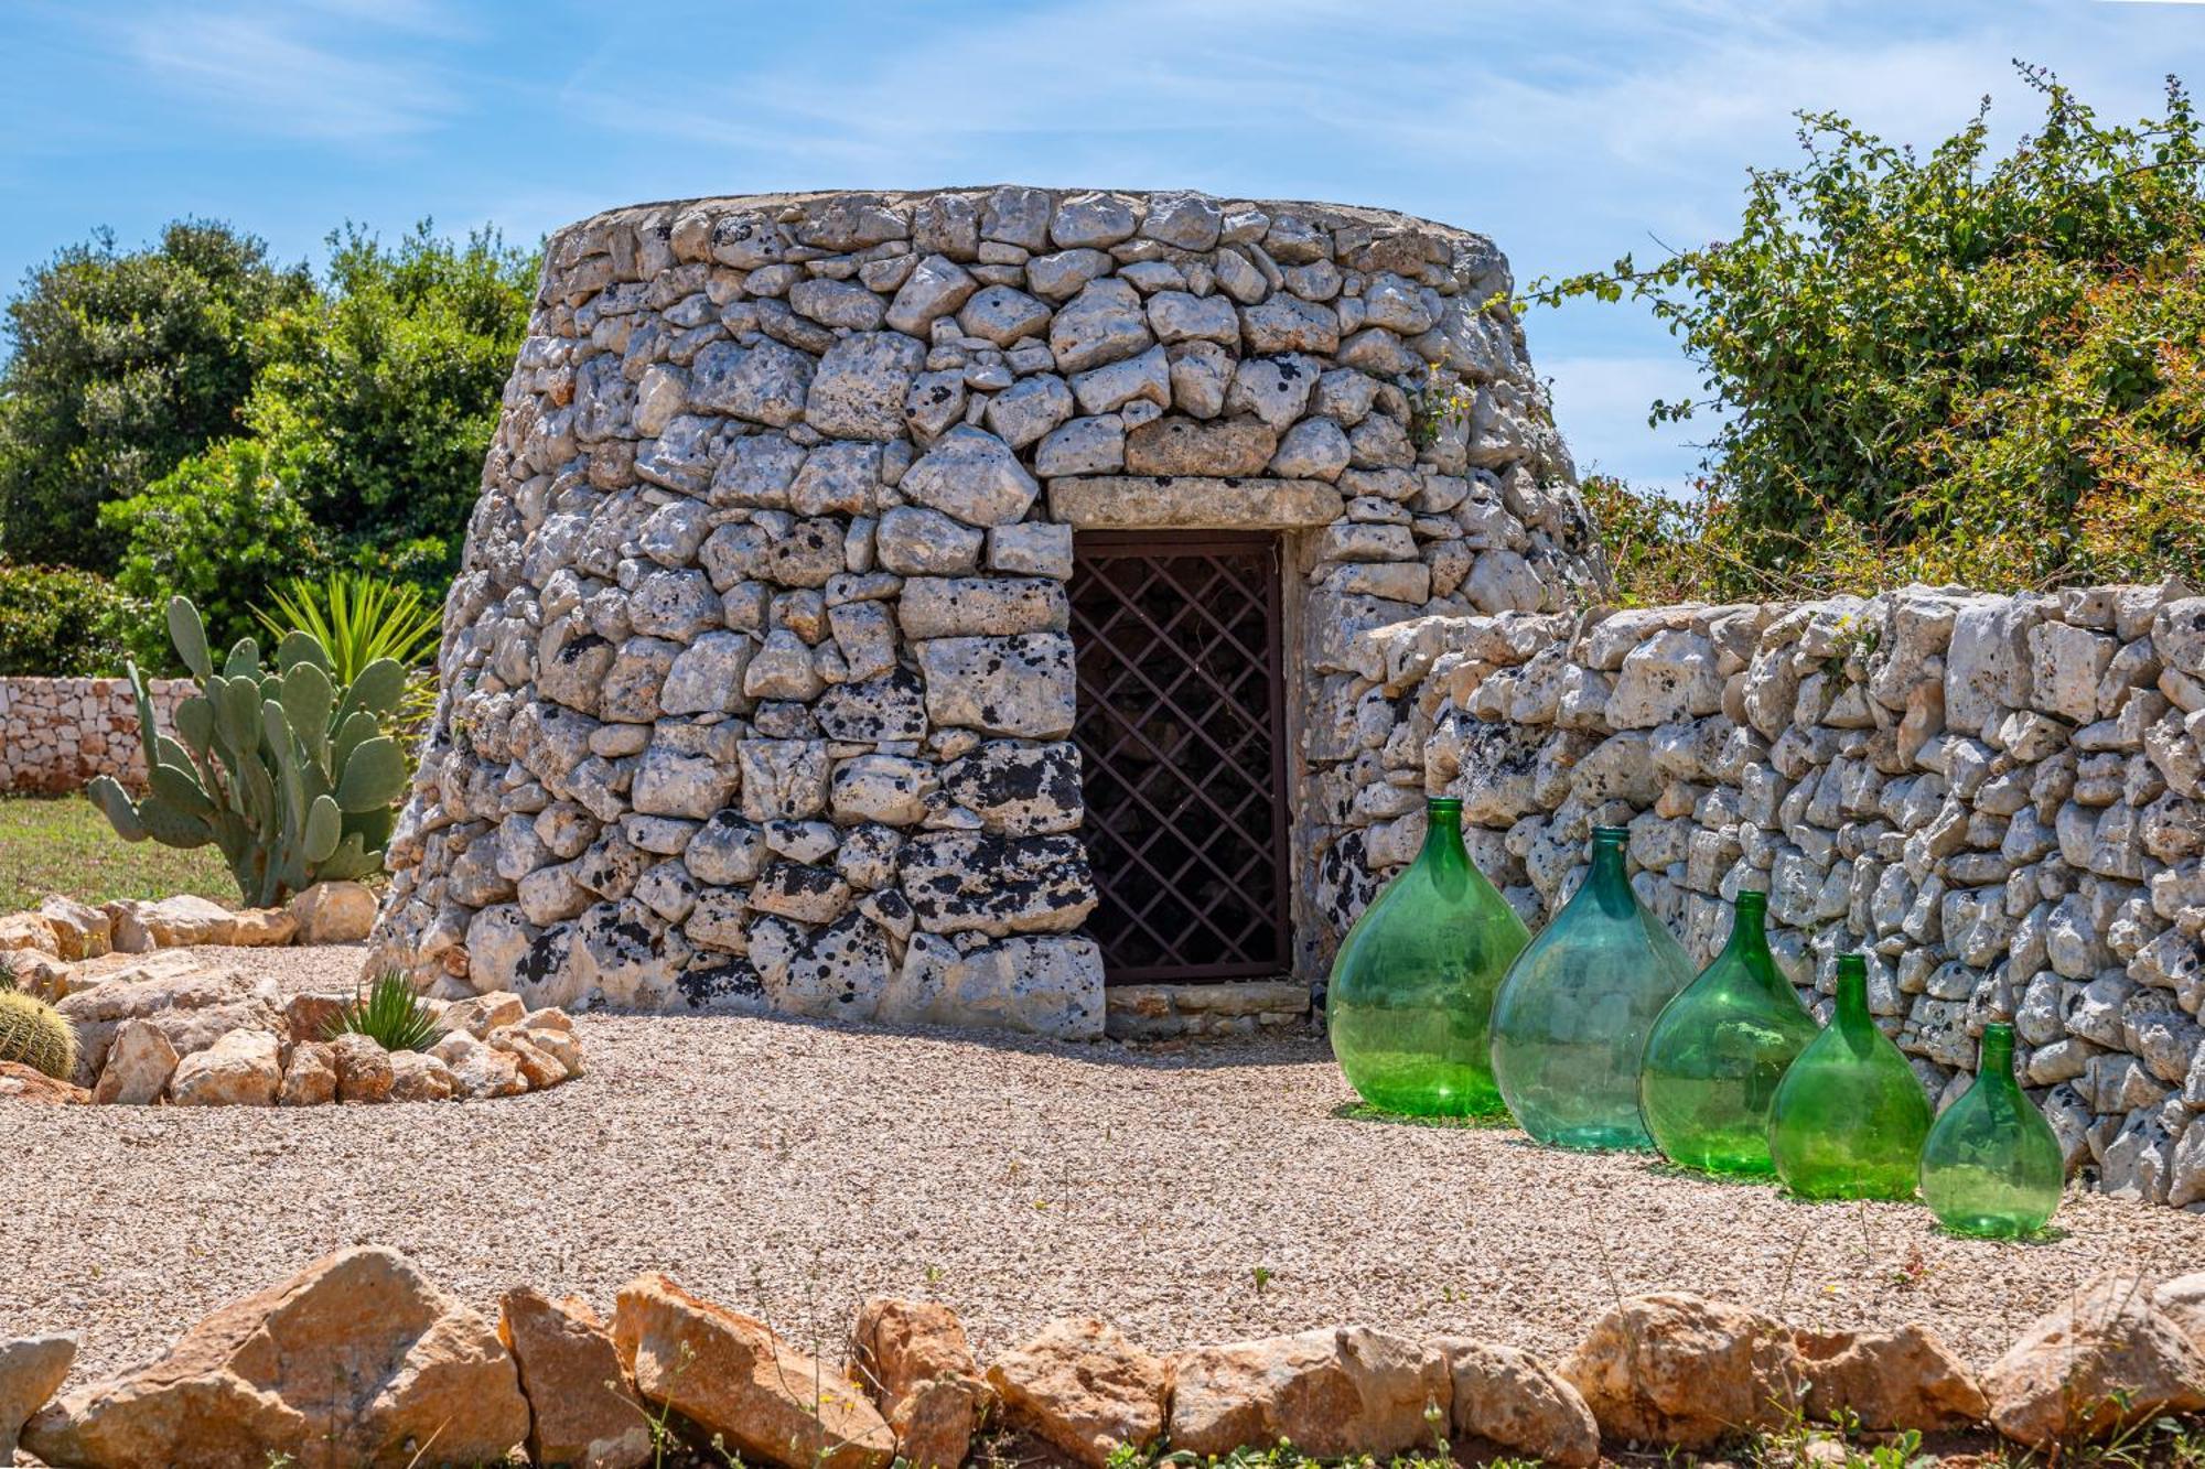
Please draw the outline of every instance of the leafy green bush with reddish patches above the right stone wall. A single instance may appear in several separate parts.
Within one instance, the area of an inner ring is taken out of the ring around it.
[[[1656,582],[2205,569],[2205,135],[2172,82],[2163,117],[2106,126],[2022,75],[2044,119],[2004,157],[1984,110],[1927,154],[1801,115],[1804,163],[1751,172],[1729,240],[1530,289],[1645,302],[1702,371],[1704,399],[1652,408],[1720,412],[1702,498],[1621,534],[1720,565],[1687,547]]]

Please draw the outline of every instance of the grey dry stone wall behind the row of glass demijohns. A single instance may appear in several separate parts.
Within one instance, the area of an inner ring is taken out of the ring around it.
[[[1532,924],[1627,825],[1634,887],[1707,959],[1742,887],[1828,1008],[1870,1008],[1932,1094],[1984,1021],[2073,1167],[2205,1211],[2205,598],[1910,587],[1872,600],[1429,618],[1367,640],[1356,752],[1319,776],[1349,907],[1464,801]]]

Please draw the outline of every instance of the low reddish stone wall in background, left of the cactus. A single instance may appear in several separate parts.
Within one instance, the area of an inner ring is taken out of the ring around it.
[[[152,679],[146,693],[168,730],[192,682]],[[0,679],[0,792],[62,794],[99,774],[146,785],[130,679]]]

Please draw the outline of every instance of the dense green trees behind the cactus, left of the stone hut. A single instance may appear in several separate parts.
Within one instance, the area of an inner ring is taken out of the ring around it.
[[[0,554],[187,596],[216,642],[300,576],[355,569],[437,596],[459,569],[536,256],[494,232],[331,236],[322,282],[227,225],[62,251],[9,304]],[[172,668],[157,618],[126,637]],[[60,664],[106,657],[64,648]],[[40,668],[53,673],[55,668]]]

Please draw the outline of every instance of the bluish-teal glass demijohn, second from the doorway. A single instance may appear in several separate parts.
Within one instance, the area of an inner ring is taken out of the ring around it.
[[[1649,1149],[1638,1057],[1691,959],[1623,871],[1623,827],[1592,829],[1592,871],[1517,957],[1493,1001],[1493,1079],[1557,1147]]]

